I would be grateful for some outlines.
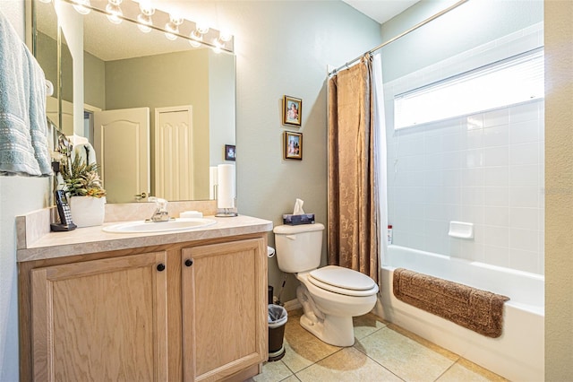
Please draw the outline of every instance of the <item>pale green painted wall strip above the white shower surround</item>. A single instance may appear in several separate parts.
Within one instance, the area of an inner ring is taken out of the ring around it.
[[[440,12],[447,7],[446,3],[448,2],[423,0],[384,22],[383,41],[398,36]],[[382,48],[384,82],[436,64],[537,22],[543,22],[543,1],[468,1]]]

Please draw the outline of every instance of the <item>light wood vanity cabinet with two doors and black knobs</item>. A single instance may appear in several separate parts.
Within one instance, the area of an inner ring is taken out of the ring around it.
[[[254,233],[19,263],[21,380],[258,374],[266,246]]]

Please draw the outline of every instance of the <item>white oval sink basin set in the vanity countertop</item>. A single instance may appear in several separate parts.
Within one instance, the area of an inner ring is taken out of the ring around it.
[[[103,227],[102,230],[113,233],[143,233],[143,232],[181,232],[209,227],[217,221],[204,218],[177,218],[170,221],[127,221]]]

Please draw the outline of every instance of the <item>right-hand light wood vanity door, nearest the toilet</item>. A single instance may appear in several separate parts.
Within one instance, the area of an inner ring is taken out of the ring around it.
[[[266,360],[266,240],[183,248],[182,262],[184,380],[220,380]]]

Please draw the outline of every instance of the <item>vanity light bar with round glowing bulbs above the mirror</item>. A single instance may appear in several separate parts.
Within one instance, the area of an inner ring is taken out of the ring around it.
[[[82,9],[88,12],[94,11],[103,13],[109,17],[110,14],[106,11],[107,4],[118,3],[117,0],[108,2],[101,0],[63,0],[65,3],[81,5]],[[183,17],[177,17],[174,20],[169,13],[153,9],[150,6],[145,7],[145,11],[141,9],[140,4],[136,2],[121,2],[122,13],[115,13],[113,15],[115,21],[128,21],[133,22],[142,32],[150,30],[158,30],[169,35],[169,39],[184,39],[189,41],[192,47],[198,48],[200,46],[213,48],[215,51],[224,50],[233,53],[235,49],[234,38],[227,32],[214,30],[202,24],[201,22],[191,22]],[[119,6],[118,4],[116,6]],[[178,22],[178,23],[175,23]],[[169,25],[169,28],[167,28]],[[175,28],[174,28],[175,27]],[[192,35],[196,31],[198,36]]]

